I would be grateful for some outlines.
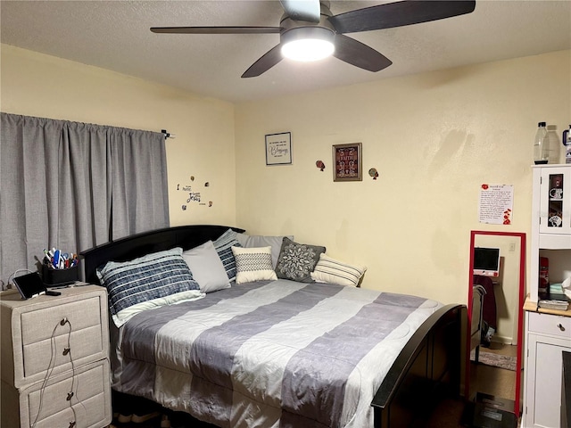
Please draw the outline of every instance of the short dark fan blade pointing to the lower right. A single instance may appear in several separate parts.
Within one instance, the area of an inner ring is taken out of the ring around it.
[[[335,35],[335,58],[369,71],[379,71],[387,68],[393,62],[372,47],[360,43],[354,38]]]

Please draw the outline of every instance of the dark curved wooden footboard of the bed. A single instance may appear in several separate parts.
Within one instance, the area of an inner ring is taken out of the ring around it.
[[[422,426],[444,398],[459,397],[466,306],[434,312],[410,338],[371,403],[376,428]]]

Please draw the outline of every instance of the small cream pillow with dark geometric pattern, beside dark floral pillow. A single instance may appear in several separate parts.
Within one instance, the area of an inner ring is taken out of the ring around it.
[[[271,264],[271,247],[232,247],[236,259],[236,284],[277,280]]]

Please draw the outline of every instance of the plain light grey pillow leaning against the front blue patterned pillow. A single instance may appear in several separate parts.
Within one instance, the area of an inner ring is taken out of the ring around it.
[[[230,287],[226,269],[212,241],[183,251],[182,257],[193,273],[194,281],[200,285],[201,292],[216,292]]]

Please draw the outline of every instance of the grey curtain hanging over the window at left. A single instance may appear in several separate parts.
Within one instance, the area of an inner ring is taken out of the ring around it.
[[[1,113],[0,280],[169,226],[161,133]]]

